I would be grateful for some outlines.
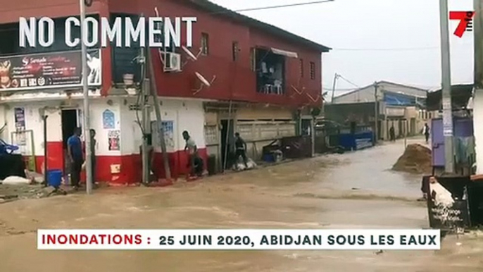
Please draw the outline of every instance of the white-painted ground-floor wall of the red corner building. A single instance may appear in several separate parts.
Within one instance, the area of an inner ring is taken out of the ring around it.
[[[25,112],[25,130],[32,130],[34,147],[30,147],[30,139],[27,139],[27,146],[22,149],[26,156],[35,152],[36,156],[44,154],[44,122],[40,113],[46,109],[47,119],[47,141],[62,142],[62,101],[28,101],[15,102],[0,105],[0,127],[6,122],[7,128],[0,135],[6,142],[16,144],[11,137],[15,132],[15,108],[23,108]],[[135,99],[123,98],[102,98],[92,99],[90,104],[90,127],[96,130],[96,155],[99,156],[120,156],[139,154],[139,146],[142,144],[142,133],[137,123],[136,111],[130,111],[129,105],[134,104]],[[182,132],[189,131],[199,148],[206,147],[204,137],[204,111],[201,101],[183,101],[175,99],[163,99],[161,106],[161,118],[163,121],[172,121],[172,142],[168,142],[168,152],[175,152],[184,149]],[[65,109],[80,109],[82,101],[72,101],[71,106]],[[114,114],[114,128],[105,128],[103,113],[109,110]],[[142,112],[139,111],[139,119]],[[154,110],[151,111],[151,120],[156,120]],[[82,123],[82,121],[81,121]],[[108,134],[112,130],[120,132],[120,150],[109,150]],[[27,134],[28,135],[28,134]],[[153,143],[157,135],[153,135]],[[158,147],[157,147],[158,148]]]

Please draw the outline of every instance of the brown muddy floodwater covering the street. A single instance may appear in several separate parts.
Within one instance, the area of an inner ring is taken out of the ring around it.
[[[418,140],[412,140],[417,142]],[[420,175],[390,171],[403,142],[217,175],[0,204],[0,271],[483,271],[483,238],[439,251],[37,251],[38,228],[427,228]]]

